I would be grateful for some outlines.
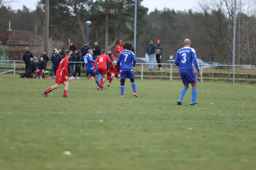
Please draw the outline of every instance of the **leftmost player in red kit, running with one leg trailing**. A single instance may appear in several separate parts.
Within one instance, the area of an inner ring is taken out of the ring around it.
[[[63,93],[63,97],[64,98],[69,98],[67,96],[67,90],[69,87],[69,84],[67,82],[67,79],[65,77],[65,74],[67,75],[68,79],[71,81],[70,75],[68,74],[68,59],[70,58],[70,51],[65,51],[65,56],[63,59],[61,59],[61,63],[58,66],[58,70],[56,71],[56,79],[55,79],[55,85],[52,86],[51,88],[49,88],[47,91],[44,91],[43,95],[44,97],[47,97],[47,94],[50,93],[51,91],[53,91],[56,88],[59,88],[60,84],[62,83],[65,88],[64,88],[64,93]]]

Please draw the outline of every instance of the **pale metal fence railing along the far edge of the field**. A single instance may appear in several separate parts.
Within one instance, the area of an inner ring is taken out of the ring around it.
[[[14,76],[15,76],[15,68],[16,68],[16,63],[17,62],[21,62],[23,63],[22,60],[0,60],[0,62],[13,62],[14,66],[13,66],[13,71],[14,71]],[[49,63],[51,63],[49,61]],[[83,63],[83,62],[70,62],[70,63]],[[143,80],[143,69],[145,67],[145,65],[149,65],[149,64],[153,64],[153,65],[158,65],[157,63],[136,63],[136,65],[141,65],[141,80]],[[176,66],[175,64],[172,63],[161,63],[161,65],[168,65],[170,66],[170,80],[172,80],[172,69]],[[232,68],[233,66],[236,67],[243,67],[243,68],[254,68],[256,69],[256,65],[200,65],[200,69],[201,69],[201,82],[203,82],[203,72],[204,72],[204,68],[215,68],[215,67],[230,67]],[[233,77],[233,80],[235,78]]]

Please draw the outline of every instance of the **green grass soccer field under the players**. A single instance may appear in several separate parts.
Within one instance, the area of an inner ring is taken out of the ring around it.
[[[0,170],[256,169],[255,85],[199,82],[199,106],[191,87],[177,106],[181,81],[135,80],[135,98],[126,80],[119,98],[118,79],[82,78],[65,99],[42,95],[54,80],[0,78]]]

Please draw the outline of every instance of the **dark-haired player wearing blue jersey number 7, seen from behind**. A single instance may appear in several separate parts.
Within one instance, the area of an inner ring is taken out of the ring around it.
[[[132,44],[131,42],[125,42],[122,47],[125,49],[120,52],[119,57],[117,59],[117,65],[116,70],[119,71],[120,62],[122,64],[122,68],[120,70],[120,76],[121,76],[121,96],[124,97],[124,91],[125,91],[125,79],[128,78],[131,80],[131,86],[134,92],[135,97],[139,97],[136,93],[136,83],[134,82],[134,72],[132,70],[132,61],[133,66],[135,67],[136,64],[136,58],[134,56],[134,53],[131,51]]]

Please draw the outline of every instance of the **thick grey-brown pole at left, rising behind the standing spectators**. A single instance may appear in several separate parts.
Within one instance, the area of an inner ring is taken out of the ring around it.
[[[44,50],[47,56],[49,56],[49,0],[45,0],[44,20],[45,20]]]

